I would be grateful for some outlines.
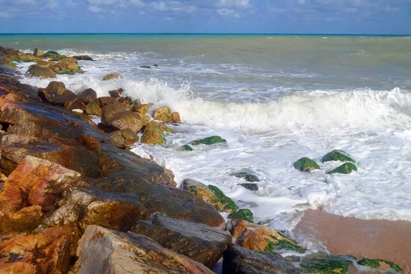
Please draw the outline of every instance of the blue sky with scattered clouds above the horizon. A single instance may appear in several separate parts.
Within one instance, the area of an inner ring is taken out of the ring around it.
[[[411,34],[411,0],[0,0],[0,33]]]

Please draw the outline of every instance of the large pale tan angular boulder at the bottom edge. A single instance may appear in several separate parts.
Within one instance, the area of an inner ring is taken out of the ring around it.
[[[90,225],[77,249],[79,274],[213,273],[206,266],[132,232]]]

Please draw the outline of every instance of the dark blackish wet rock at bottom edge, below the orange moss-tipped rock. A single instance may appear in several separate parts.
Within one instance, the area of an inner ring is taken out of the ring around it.
[[[231,245],[224,253],[223,274],[301,273],[277,253],[251,251]]]

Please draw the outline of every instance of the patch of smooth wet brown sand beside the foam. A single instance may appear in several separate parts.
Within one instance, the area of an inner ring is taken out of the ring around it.
[[[368,221],[306,210],[294,232],[323,242],[333,255],[388,260],[411,273],[411,222]]]

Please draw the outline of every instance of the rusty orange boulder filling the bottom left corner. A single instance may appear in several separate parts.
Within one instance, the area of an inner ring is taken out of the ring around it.
[[[69,246],[70,236],[63,227],[52,227],[29,236],[6,236],[0,242],[0,265],[5,266],[0,272],[66,273],[69,270]],[[8,272],[12,270],[17,272]]]

